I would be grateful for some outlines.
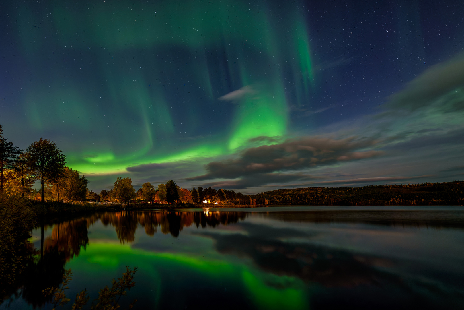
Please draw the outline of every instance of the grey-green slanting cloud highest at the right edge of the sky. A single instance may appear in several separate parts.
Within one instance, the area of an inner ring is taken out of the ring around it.
[[[416,110],[431,104],[441,96],[448,95],[453,99],[453,90],[459,88],[460,99],[456,108],[464,108],[464,100],[460,88],[464,86],[464,56],[459,55],[449,61],[439,63],[426,70],[417,78],[410,81],[405,89],[390,97],[393,108]],[[450,93],[451,92],[451,93]]]

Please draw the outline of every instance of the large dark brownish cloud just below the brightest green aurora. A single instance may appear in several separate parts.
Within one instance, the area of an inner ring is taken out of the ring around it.
[[[379,151],[362,151],[374,145],[372,140],[322,139],[304,137],[288,139],[284,143],[252,147],[239,154],[238,158],[211,162],[206,165],[206,174],[187,180],[211,180],[215,178],[246,178],[220,183],[221,185],[245,186],[282,182],[284,179],[308,178],[307,175],[274,173],[280,171],[301,171],[318,165],[332,165],[338,162],[371,158]],[[259,182],[257,182],[259,181]],[[265,183],[263,183],[263,181]],[[256,183],[255,183],[256,182]],[[219,184],[218,184],[219,185]]]

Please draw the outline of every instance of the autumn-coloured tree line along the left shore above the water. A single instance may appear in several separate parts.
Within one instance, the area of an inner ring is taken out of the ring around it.
[[[40,138],[21,150],[3,136],[0,125],[0,193],[20,195],[23,198],[65,203],[111,202],[130,204],[147,202],[149,204],[209,203],[209,204],[249,204],[248,198],[232,190],[215,190],[211,186],[203,189],[198,186],[192,190],[181,188],[173,180],[155,187],[145,182],[135,191],[131,178],[116,178],[110,190],[99,194],[87,188],[88,180],[78,171],[66,166],[66,156],[55,142]],[[33,189],[40,180],[39,191]]]

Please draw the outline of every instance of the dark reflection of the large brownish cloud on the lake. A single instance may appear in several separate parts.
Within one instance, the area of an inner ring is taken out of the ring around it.
[[[314,219],[313,219],[314,220]],[[316,236],[313,231],[275,228],[260,224],[240,223],[238,229],[246,233],[220,234],[210,231],[195,233],[211,237],[216,251],[221,254],[249,257],[258,268],[279,276],[299,277],[303,281],[325,287],[353,288],[359,285],[388,283],[400,286],[399,276],[387,274],[377,267],[391,266],[387,259],[356,255],[321,244],[283,241]],[[284,284],[276,285],[282,289]],[[337,307],[331,307],[337,308]]]

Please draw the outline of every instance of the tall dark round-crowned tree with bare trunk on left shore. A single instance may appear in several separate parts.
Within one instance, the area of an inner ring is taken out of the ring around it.
[[[40,176],[41,201],[44,202],[44,181],[46,178],[56,178],[57,171],[64,169],[66,156],[58,149],[55,142],[42,138],[29,145],[27,154],[32,170]]]

